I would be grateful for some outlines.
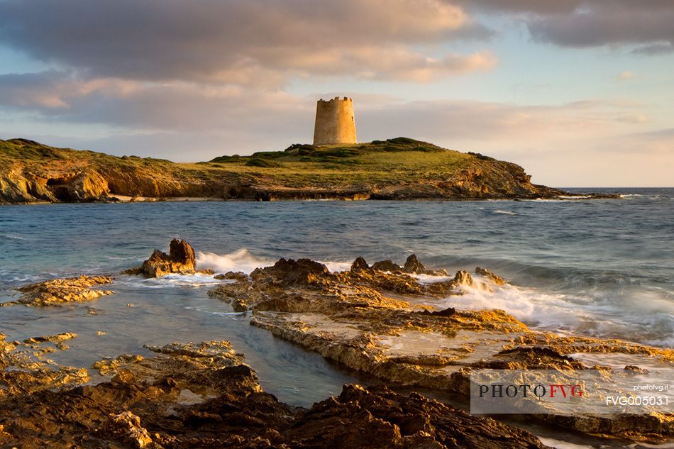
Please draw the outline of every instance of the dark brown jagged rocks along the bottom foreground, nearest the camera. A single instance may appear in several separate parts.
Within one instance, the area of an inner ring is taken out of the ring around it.
[[[345,385],[311,409],[263,391],[226,341],[94,364],[109,382],[0,397],[0,445],[31,448],[484,448],[545,445],[420,394]]]

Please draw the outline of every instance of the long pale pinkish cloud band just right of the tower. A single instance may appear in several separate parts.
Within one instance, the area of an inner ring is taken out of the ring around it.
[[[623,101],[587,100],[560,105],[521,105],[487,101],[412,101],[360,111],[363,138],[409,137],[468,149],[484,143],[546,148],[568,142],[623,133],[643,126],[645,106]],[[382,111],[384,109],[385,111]],[[365,122],[365,126],[363,126]]]

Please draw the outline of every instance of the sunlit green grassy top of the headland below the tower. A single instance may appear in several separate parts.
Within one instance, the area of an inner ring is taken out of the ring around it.
[[[282,151],[221,156],[208,162],[175,163],[148,157],[116,157],[52,148],[28,140],[0,140],[0,161],[50,177],[93,168],[102,174],[173,179],[180,182],[253,182],[288,188],[365,187],[372,184],[446,179],[482,155],[446,150],[409,138],[354,145],[291,145]],[[8,165],[5,163],[4,165]]]

